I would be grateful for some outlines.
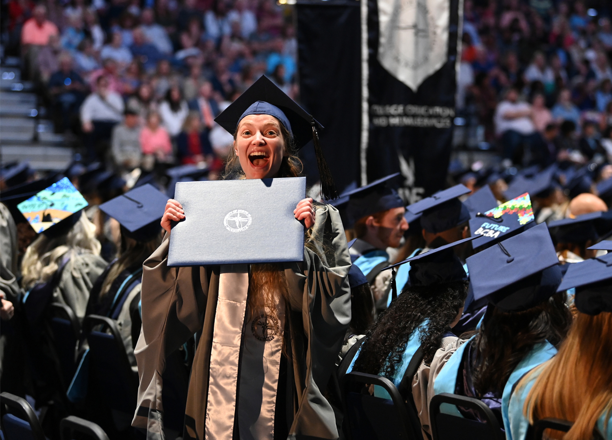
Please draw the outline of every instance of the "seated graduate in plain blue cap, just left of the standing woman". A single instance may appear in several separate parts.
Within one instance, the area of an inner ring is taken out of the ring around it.
[[[136,369],[134,347],[140,336],[140,290],[144,260],[162,243],[160,220],[166,196],[152,185],[132,189],[100,205],[100,211],[121,225],[121,248],[91,289],[88,315],[117,321],[125,351]]]

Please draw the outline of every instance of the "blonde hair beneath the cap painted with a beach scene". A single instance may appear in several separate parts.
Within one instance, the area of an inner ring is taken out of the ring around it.
[[[100,242],[95,238],[95,225],[82,213],[68,233],[52,238],[41,233],[32,241],[21,262],[21,285],[29,289],[37,282],[49,281],[67,252],[100,255],[100,248]]]

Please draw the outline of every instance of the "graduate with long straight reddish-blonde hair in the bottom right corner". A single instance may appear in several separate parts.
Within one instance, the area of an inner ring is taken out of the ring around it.
[[[513,440],[524,440],[529,424],[550,417],[573,426],[565,435],[547,430],[547,438],[587,440],[595,428],[602,438],[612,438],[611,265],[608,253],[573,264],[565,273],[558,290],[575,288],[578,312],[559,353],[527,373],[513,392]]]

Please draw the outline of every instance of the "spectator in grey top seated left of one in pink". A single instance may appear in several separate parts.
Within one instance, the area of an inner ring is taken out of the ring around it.
[[[119,174],[123,175],[140,166],[142,148],[140,146],[140,119],[138,111],[125,109],[122,123],[115,125],[111,136],[111,158]]]

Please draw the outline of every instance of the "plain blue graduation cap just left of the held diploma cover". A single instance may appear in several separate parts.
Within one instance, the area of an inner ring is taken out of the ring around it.
[[[138,186],[100,205],[100,210],[121,224],[121,233],[136,241],[149,241],[159,234],[160,220],[168,197],[154,186]]]

